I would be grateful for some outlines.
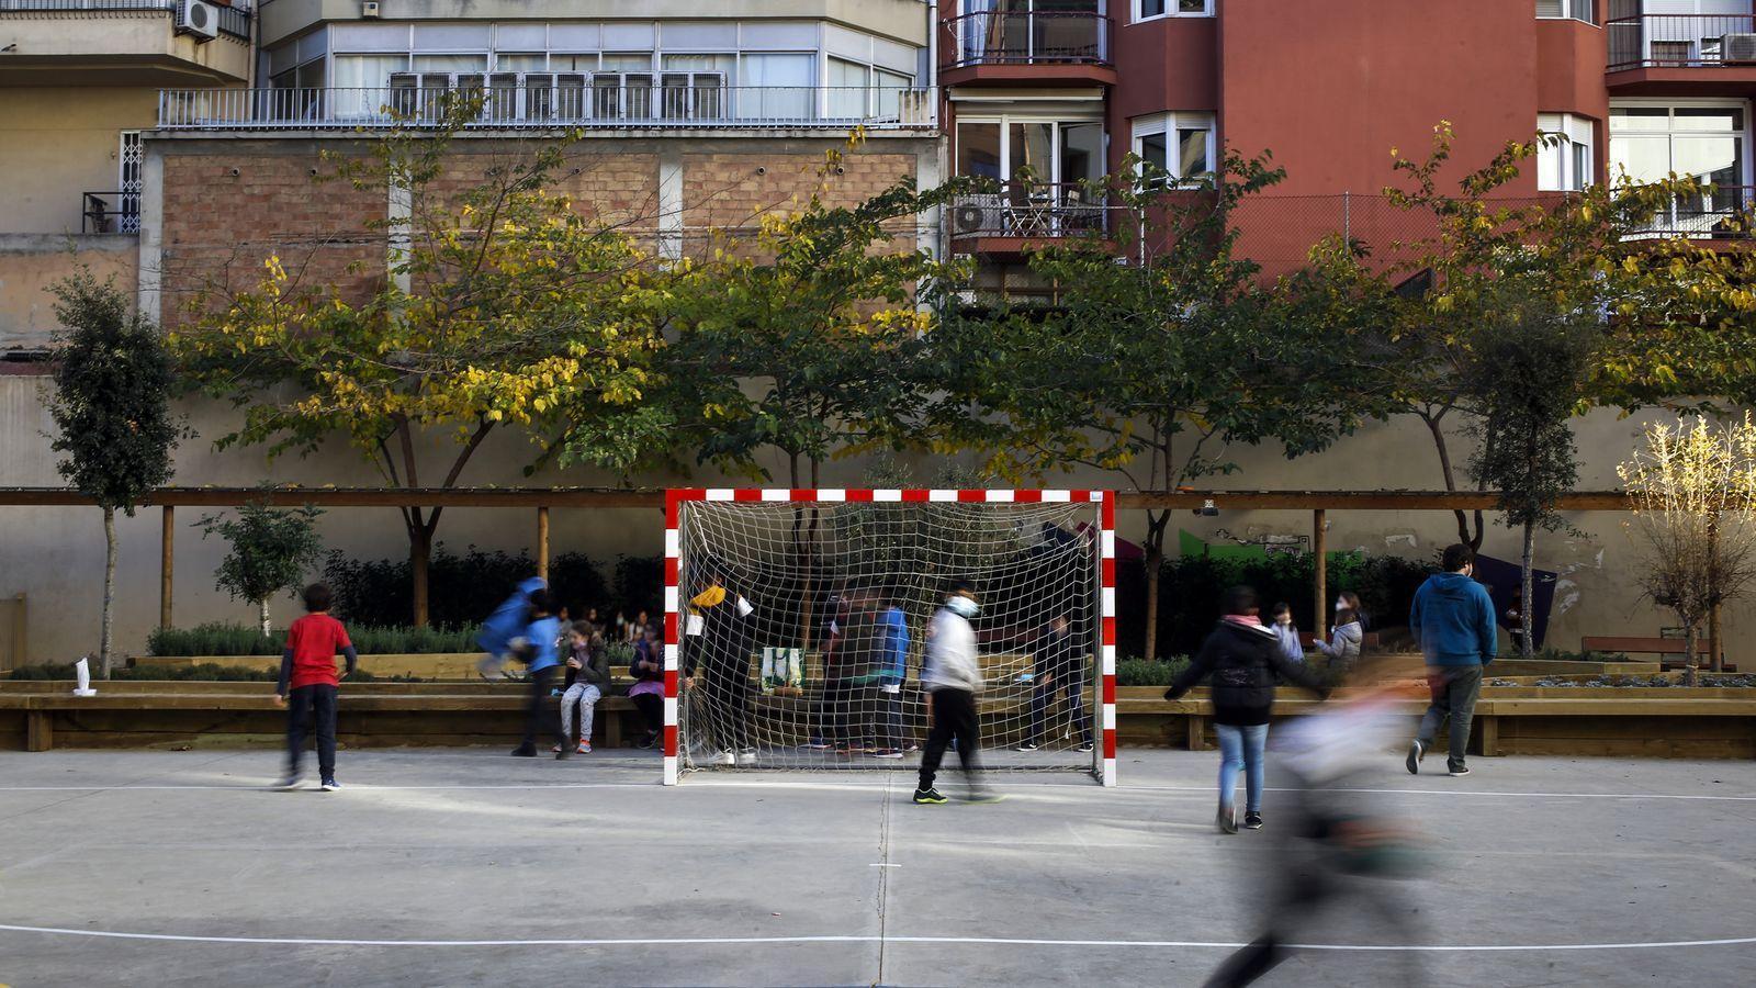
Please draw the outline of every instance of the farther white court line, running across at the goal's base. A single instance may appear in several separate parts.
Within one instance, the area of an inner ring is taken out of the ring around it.
[[[874,770],[882,772],[882,770]],[[852,774],[852,772],[850,772]],[[845,791],[845,789],[883,789],[883,781],[853,781],[845,782],[781,782],[781,781],[764,781],[764,779],[720,779],[706,781],[697,779],[678,786],[678,789],[822,789],[822,791]],[[427,791],[427,789],[658,789],[662,788],[658,781],[651,782],[507,782],[507,784],[432,784],[432,786],[378,786],[372,782],[349,782],[346,791]],[[114,786],[0,786],[0,793],[121,793],[121,791],[235,791],[235,793],[269,793],[281,791],[274,786],[132,786],[128,782],[119,782]],[[1096,782],[1033,782],[1020,786],[1010,795],[1027,795],[1031,789],[1101,789]],[[307,791],[307,789],[295,789]],[[309,791],[316,791],[313,786]],[[1113,789],[1103,789],[1108,793],[1212,793],[1213,786],[1120,786]],[[1266,786],[1268,793],[1298,793],[1299,789],[1291,789],[1284,786]],[[1364,789],[1364,788],[1338,788],[1333,793],[1368,793],[1382,796],[1479,796],[1479,798],[1501,798],[1501,800],[1705,800],[1705,802],[1733,802],[1733,803],[1756,803],[1756,796],[1707,796],[1707,795],[1680,795],[1680,793],[1494,793],[1487,789]]]

